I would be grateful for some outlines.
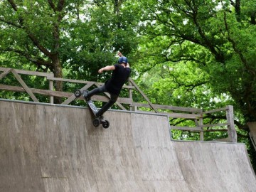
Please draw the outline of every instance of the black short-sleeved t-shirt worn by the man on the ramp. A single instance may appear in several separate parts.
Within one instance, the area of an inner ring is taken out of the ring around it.
[[[114,65],[111,79],[105,82],[107,91],[114,95],[119,95],[122,90],[122,86],[129,78],[131,71],[131,68],[124,68],[123,65]]]

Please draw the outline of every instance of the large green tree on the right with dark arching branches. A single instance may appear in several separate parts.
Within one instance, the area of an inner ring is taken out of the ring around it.
[[[142,2],[150,17],[146,70],[156,63],[193,63],[208,74],[215,92],[229,93],[245,117],[255,120],[256,26],[247,10],[252,1]]]

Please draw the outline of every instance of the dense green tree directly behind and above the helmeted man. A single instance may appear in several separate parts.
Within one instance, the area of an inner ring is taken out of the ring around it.
[[[85,21],[73,23],[68,41],[74,43],[66,46],[68,62],[64,63],[69,77],[95,81],[109,78],[110,73],[97,75],[97,70],[117,63],[117,50],[129,55],[137,48],[136,7],[132,1],[95,1]]]

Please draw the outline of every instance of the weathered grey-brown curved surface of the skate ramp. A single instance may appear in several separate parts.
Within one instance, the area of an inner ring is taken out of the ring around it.
[[[244,144],[171,142],[164,116],[0,101],[0,191],[256,191]]]

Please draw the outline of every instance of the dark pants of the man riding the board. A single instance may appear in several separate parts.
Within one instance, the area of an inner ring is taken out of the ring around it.
[[[87,92],[87,97],[92,97],[92,95],[96,95],[100,92],[108,92],[105,85],[102,85],[101,87],[97,87],[94,90],[91,90],[90,92]],[[109,92],[110,93],[110,92]],[[97,112],[97,116],[102,116],[114,103],[117,101],[118,95],[114,95],[110,93],[110,100],[107,102],[100,110]]]

